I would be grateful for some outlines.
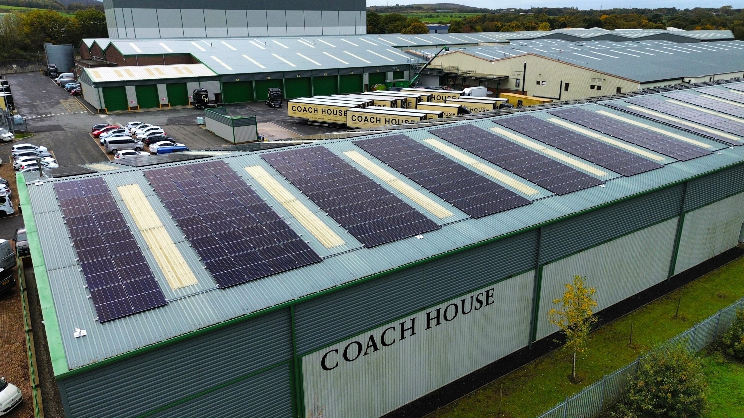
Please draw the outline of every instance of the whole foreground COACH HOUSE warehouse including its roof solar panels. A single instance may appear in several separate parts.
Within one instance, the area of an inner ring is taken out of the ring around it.
[[[741,91],[21,175],[65,414],[379,417],[667,280],[744,239]]]

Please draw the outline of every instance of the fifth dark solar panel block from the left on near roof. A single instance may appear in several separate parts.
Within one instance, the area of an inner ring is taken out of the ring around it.
[[[559,195],[602,184],[600,179],[476,126],[449,126],[429,132]]]

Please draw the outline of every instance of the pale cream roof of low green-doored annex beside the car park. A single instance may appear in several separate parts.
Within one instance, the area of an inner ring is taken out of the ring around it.
[[[217,74],[214,74],[214,72],[204,64],[84,68],[83,71],[85,71],[93,83],[217,76]]]

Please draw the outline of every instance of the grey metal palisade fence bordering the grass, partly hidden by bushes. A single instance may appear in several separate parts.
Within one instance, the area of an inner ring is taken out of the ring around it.
[[[694,327],[687,329],[676,337],[670,338],[665,344],[684,341],[687,349],[693,352],[702,350],[708,344],[716,341],[734,321],[737,309],[744,308],[744,298],[719,310],[705,318]],[[593,418],[625,396],[629,376],[638,372],[641,361],[645,356],[625,367],[615,370],[602,379],[592,383],[587,388],[574,393],[562,400],[558,405],[550,408],[537,418]]]

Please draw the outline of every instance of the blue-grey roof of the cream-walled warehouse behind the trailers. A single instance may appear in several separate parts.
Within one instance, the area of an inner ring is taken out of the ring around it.
[[[539,42],[547,42],[540,39]],[[558,41],[558,39],[556,39]],[[639,83],[744,71],[744,42],[675,44],[670,41],[557,42],[554,45],[453,48],[484,60],[536,54]]]

